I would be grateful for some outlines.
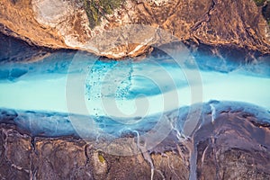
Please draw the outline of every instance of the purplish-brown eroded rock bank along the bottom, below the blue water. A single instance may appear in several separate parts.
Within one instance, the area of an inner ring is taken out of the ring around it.
[[[269,179],[270,126],[261,119],[267,117],[240,109],[217,109],[214,121],[206,110],[202,126],[189,139],[179,139],[172,130],[156,148],[132,156],[103,152],[94,148],[94,140],[31,137],[6,112],[0,125],[0,177],[189,179],[194,174],[197,179]]]

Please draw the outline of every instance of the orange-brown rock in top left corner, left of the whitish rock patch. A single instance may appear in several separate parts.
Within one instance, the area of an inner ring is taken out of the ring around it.
[[[58,31],[35,20],[31,0],[3,0],[0,12],[0,29],[5,34],[39,46],[67,48]]]

